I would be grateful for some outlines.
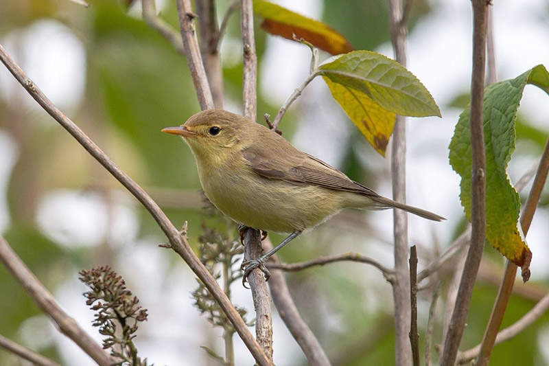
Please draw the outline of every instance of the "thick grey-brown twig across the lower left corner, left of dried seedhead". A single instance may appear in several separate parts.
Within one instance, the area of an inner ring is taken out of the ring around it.
[[[21,258],[19,258],[2,236],[0,236],[0,261],[4,264],[5,268],[8,268],[8,271],[12,273],[13,277],[15,277],[25,291],[27,291],[27,294],[32,297],[36,305],[51,317],[62,334],[69,337],[99,365],[110,366],[115,363],[115,360],[59,306],[56,299],[40,283],[30,269],[25,266],[25,263],[23,263]]]

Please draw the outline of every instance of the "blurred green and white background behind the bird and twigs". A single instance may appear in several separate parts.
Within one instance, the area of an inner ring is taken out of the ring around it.
[[[218,1],[218,16],[229,3]],[[410,69],[432,91],[443,119],[409,122],[408,190],[412,203],[449,218],[439,227],[412,219],[410,238],[411,244],[419,246],[420,268],[435,258],[436,251],[443,250],[465,225],[458,204],[458,180],[447,166],[449,137],[460,108],[468,99],[468,81],[461,76],[470,70],[470,14],[467,3],[457,3],[414,1],[410,15]],[[509,1],[502,3],[502,8],[507,6],[506,11],[513,12],[511,5],[506,5]],[[288,2],[284,4],[290,6]],[[500,2],[495,3],[496,10],[498,5]],[[311,0],[299,6],[304,14],[322,19],[344,34],[355,49],[392,55],[386,1]],[[535,6],[528,9],[536,9]],[[174,1],[159,1],[157,8],[162,18],[177,29]],[[536,14],[538,20],[542,19],[536,30],[547,28],[547,7],[542,10]],[[450,14],[456,15],[458,21],[449,21]],[[501,25],[497,20],[496,36]],[[430,27],[438,26],[444,33],[445,24],[456,22],[463,25],[456,27],[454,33],[448,31],[449,45],[433,43],[436,35]],[[242,95],[239,37],[240,20],[235,13],[221,54],[224,104],[237,113]],[[502,31],[500,40],[503,42],[505,37]],[[199,111],[198,102],[185,59],[143,23],[139,3],[127,10],[123,1],[90,1],[89,8],[67,0],[1,1],[0,43],[62,111],[150,192],[176,226],[188,220],[189,242],[196,248],[202,223],[216,223],[204,216],[191,153],[180,139],[160,130],[185,122]],[[309,51],[268,36],[259,26],[256,43],[260,71],[257,114],[274,116],[285,96],[307,76]],[[458,56],[441,58],[445,47],[455,47]],[[469,53],[460,54],[463,49]],[[547,54],[540,52],[541,56],[517,52],[526,58],[526,66],[519,63],[518,72],[502,57],[502,78],[515,77],[539,63],[540,57],[549,65]],[[432,65],[430,62],[440,69],[425,66]],[[78,283],[78,271],[110,264],[141,298],[141,305],[150,310],[148,323],[138,332],[141,356],[156,365],[215,365],[199,346],[207,345],[222,353],[220,331],[212,330],[192,307],[189,293],[196,282],[183,261],[171,251],[156,247],[165,240],[156,222],[14,84],[3,66],[0,69],[0,232],[62,306],[95,338],[100,336],[91,328],[92,313],[84,305],[81,294],[85,288]],[[525,100],[540,98],[535,92],[528,93],[531,95],[527,94]],[[545,117],[536,115],[536,108],[527,111],[530,114],[522,114],[517,124],[519,140],[510,169],[515,180],[539,155],[549,130],[536,121],[536,117],[547,120],[549,114],[543,113],[546,109],[539,113]],[[318,80],[290,108],[281,129],[284,137],[303,150],[325,154],[319,156],[351,178],[390,195],[390,159],[380,157],[366,145]],[[548,201],[546,192],[533,225],[533,240],[529,241],[535,256],[533,280],[521,286],[522,292],[511,299],[504,326],[519,319],[548,292],[549,272],[544,263],[549,260],[549,251],[544,249],[543,240],[548,234],[547,225],[543,225],[543,220],[548,219]],[[330,253],[359,251],[392,266],[391,218],[390,212],[346,212],[285,248],[281,258],[297,262]],[[275,234],[271,238],[276,242],[282,236]],[[487,247],[463,350],[476,345],[482,337],[502,264],[500,255]],[[433,344],[441,343],[445,295],[452,271],[447,268],[439,275],[443,286]],[[292,273],[287,279],[303,317],[334,365],[394,364],[391,288],[377,271],[361,264],[332,264]],[[250,293],[239,283],[233,287],[235,302],[253,312]],[[429,284],[419,294],[422,353],[432,288]],[[93,364],[54,330],[3,267],[0,294],[0,334],[62,365]],[[496,346],[491,365],[549,364],[548,321],[544,315],[513,340]],[[277,365],[307,364],[278,317],[274,333]],[[237,339],[235,343],[236,364],[250,364],[242,343]],[[0,350],[0,365],[21,363]]]

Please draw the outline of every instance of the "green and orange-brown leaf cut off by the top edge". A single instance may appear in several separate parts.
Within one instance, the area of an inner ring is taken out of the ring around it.
[[[269,1],[254,0],[253,11],[264,18],[261,27],[270,34],[294,41],[303,38],[315,47],[330,54],[350,52],[353,47],[339,32],[320,21],[309,19]]]

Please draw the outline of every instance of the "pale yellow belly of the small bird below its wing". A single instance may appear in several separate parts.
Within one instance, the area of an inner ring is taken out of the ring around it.
[[[255,179],[254,184],[250,184],[250,178]],[[258,179],[261,184],[257,184]],[[338,203],[331,202],[337,201],[337,195],[332,197],[327,190],[314,185],[294,185],[261,176],[231,176],[230,181],[205,177],[201,181],[215,207],[255,229],[280,233],[303,231],[340,211]]]

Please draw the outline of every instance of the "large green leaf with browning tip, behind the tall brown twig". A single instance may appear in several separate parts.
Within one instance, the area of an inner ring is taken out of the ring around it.
[[[507,164],[515,150],[515,119],[526,84],[549,93],[549,73],[543,65],[517,78],[491,84],[484,90],[482,124],[486,150],[486,236],[507,259],[529,273],[532,253],[519,227],[520,199],[511,185]],[[449,145],[449,161],[461,176],[461,204],[471,220],[471,136],[469,106],[461,113]]]

